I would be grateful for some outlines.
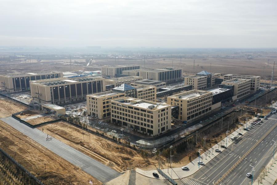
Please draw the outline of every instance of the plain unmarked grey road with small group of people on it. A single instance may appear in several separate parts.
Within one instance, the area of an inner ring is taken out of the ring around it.
[[[12,117],[2,118],[1,120],[38,142],[42,146],[45,146],[47,149],[53,151],[55,154],[71,162],[75,166],[80,167],[83,171],[103,183],[106,183],[121,175],[117,171],[105,166],[104,164],[90,158],[89,156],[75,150],[55,138],[53,138],[52,141],[46,141],[47,134],[38,129],[32,129]]]

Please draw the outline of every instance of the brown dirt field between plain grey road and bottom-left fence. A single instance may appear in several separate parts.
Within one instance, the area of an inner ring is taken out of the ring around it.
[[[0,121],[0,147],[44,184],[102,184],[24,134]],[[46,174],[45,174],[46,167]]]

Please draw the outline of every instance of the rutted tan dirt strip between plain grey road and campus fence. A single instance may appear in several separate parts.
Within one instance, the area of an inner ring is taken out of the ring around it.
[[[119,172],[123,170],[143,168],[154,164],[152,159],[142,158],[135,150],[118,146],[94,134],[88,135],[81,129],[65,122],[43,125],[44,132],[80,152],[102,162]],[[38,128],[42,130],[42,127]],[[84,133],[84,135],[82,134]]]

